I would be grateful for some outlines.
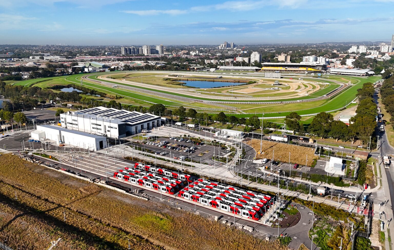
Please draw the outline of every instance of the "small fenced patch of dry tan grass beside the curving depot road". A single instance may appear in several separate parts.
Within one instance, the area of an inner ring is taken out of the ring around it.
[[[260,140],[252,139],[247,142],[251,145],[256,152],[260,151]],[[313,159],[318,157],[314,155],[313,148],[306,148],[303,146],[296,146],[292,144],[277,143],[273,141],[263,141],[262,143],[262,153],[256,154],[256,159],[272,159],[272,151],[274,150],[274,160],[281,162],[289,161],[290,152],[290,162],[298,163],[300,165],[305,165],[306,158],[308,156],[308,166],[312,164]]]

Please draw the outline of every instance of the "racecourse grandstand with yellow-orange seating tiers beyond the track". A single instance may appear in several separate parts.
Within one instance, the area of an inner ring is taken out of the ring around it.
[[[261,70],[275,71],[306,71],[306,72],[322,72],[327,70],[325,63],[263,63]]]

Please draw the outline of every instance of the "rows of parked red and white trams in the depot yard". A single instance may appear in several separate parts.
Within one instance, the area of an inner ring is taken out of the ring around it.
[[[267,194],[143,163],[120,169],[113,177],[253,220],[259,220],[274,202]]]

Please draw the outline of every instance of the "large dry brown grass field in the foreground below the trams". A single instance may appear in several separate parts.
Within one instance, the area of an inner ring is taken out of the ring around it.
[[[56,249],[125,249],[127,238],[132,249],[287,249],[165,203],[132,198],[16,156],[0,156],[0,173],[4,180],[0,239],[7,238],[13,248],[43,249],[44,243],[62,237],[65,241]],[[15,192],[18,199],[12,200]]]

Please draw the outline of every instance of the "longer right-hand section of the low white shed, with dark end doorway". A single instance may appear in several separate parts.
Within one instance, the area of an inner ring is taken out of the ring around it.
[[[106,148],[107,138],[99,135],[92,135],[76,130],[61,131],[61,141],[66,144],[78,146],[92,151]]]

